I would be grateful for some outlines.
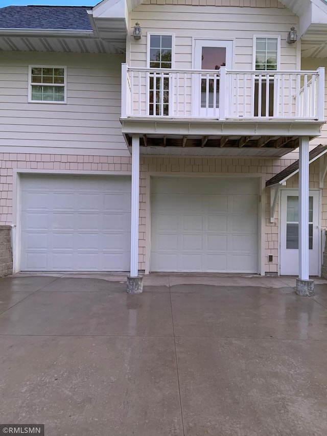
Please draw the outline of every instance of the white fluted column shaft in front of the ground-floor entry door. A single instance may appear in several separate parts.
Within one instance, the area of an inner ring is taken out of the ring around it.
[[[309,280],[309,136],[299,139],[299,274]]]

